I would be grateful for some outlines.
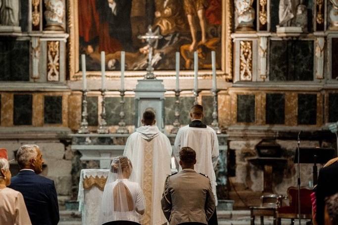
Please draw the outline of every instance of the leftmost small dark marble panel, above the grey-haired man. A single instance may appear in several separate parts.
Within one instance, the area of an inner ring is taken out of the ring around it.
[[[32,125],[32,94],[14,94],[14,125]]]

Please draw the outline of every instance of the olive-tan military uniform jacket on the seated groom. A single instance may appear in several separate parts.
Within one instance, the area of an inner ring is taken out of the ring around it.
[[[184,169],[168,176],[161,205],[170,225],[185,222],[208,224],[207,221],[215,210],[209,178],[193,169]]]

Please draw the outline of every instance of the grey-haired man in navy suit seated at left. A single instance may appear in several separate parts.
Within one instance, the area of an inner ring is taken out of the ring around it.
[[[9,187],[22,193],[32,225],[57,225],[59,207],[54,181],[38,175],[44,164],[39,146],[21,146],[16,158],[20,172]]]

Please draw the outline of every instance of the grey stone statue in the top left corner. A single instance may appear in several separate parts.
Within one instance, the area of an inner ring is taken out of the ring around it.
[[[0,25],[18,27],[20,0],[0,0]]]

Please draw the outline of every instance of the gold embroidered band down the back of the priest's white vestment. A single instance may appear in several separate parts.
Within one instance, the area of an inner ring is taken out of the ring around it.
[[[145,155],[144,155],[144,170],[142,180],[142,190],[145,195],[145,214],[142,217],[142,225],[151,225],[152,218],[152,149],[153,142],[146,141],[145,143]]]

